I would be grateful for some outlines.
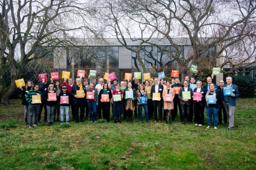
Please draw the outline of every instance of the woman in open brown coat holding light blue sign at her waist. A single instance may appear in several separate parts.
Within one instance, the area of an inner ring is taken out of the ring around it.
[[[127,92],[126,92],[127,91]],[[132,93],[132,97],[129,97],[127,94]],[[128,82],[128,87],[124,89],[124,106],[126,107],[127,112],[127,121],[129,123],[132,123],[132,112],[135,110],[135,107],[137,106],[137,92],[132,87],[132,83]]]

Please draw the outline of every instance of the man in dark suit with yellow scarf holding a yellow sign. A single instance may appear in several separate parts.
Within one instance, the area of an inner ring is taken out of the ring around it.
[[[84,96],[86,97],[85,94],[85,86],[81,84],[81,79],[76,78],[76,84],[72,86],[71,89],[71,95],[73,96],[73,103],[75,104],[75,120],[76,123],[79,123],[79,115],[78,111],[80,108],[80,121],[84,122],[84,112],[85,112],[85,97],[79,98],[76,94],[76,90],[83,90],[84,91]],[[80,94],[79,94],[80,95]]]

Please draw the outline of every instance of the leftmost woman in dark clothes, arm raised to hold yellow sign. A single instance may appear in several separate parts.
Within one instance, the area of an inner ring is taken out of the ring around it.
[[[28,102],[26,100],[26,96],[28,91],[33,89],[33,82],[32,81],[27,81],[27,84],[25,87],[20,86],[21,89],[21,96],[22,96],[22,102],[21,104],[24,106],[24,118],[25,118],[25,125],[28,124],[27,118],[28,118]]]

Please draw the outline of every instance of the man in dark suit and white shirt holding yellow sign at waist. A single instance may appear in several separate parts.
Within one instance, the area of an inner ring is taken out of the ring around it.
[[[162,121],[162,100],[163,100],[162,91],[164,90],[164,86],[159,84],[159,79],[157,77],[155,77],[154,81],[155,81],[155,84],[151,87],[150,96],[153,99],[153,93],[160,93],[160,100],[153,100],[153,109],[154,109],[155,122],[157,121],[157,111],[158,111],[159,123],[161,123],[161,121]]]

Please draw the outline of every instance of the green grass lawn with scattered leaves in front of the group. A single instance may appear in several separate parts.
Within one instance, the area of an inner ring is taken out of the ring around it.
[[[29,129],[20,103],[0,105],[0,169],[256,169],[256,98],[238,100],[233,131],[182,125],[179,118],[171,124],[86,120]]]

